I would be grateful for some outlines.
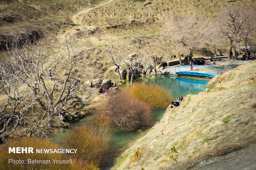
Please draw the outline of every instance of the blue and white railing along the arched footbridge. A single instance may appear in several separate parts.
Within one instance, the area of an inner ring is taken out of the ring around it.
[[[175,72],[204,72],[210,75],[221,75],[221,70],[204,65],[180,65],[175,67]]]

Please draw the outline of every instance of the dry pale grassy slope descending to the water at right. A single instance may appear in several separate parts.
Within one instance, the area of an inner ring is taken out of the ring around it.
[[[255,68],[252,61],[224,72],[211,79],[207,91],[168,108],[112,169],[168,169],[251,140],[256,135]]]

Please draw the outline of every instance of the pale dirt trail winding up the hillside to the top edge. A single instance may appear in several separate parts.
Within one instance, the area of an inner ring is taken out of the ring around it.
[[[102,7],[104,5],[107,5],[109,4],[110,2],[113,2],[114,0],[109,0],[108,2],[104,1],[102,4],[100,5],[97,5],[96,7],[92,7],[92,8],[86,8],[86,9],[83,9],[82,11],[78,12],[77,14],[73,15],[73,21],[74,21],[74,24],[76,26],[74,26],[73,28],[71,28],[70,30],[66,31],[66,33],[64,33],[63,35],[60,35],[59,38],[65,38],[66,35],[68,35],[69,33],[71,33],[74,29],[78,28],[78,26],[82,23],[82,20],[83,20],[83,16],[84,14],[90,12],[92,9],[95,9],[95,8],[98,8],[98,7]],[[83,15],[82,15],[83,14]],[[82,15],[81,18],[79,19],[76,19],[76,16],[79,16],[79,15]],[[85,26],[85,27],[89,27],[89,26]]]

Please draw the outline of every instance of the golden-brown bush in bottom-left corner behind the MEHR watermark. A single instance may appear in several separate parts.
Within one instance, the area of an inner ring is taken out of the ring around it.
[[[34,154],[9,154],[9,147],[33,147]],[[39,154],[36,149],[61,149],[59,145],[38,137],[22,137],[20,139],[10,140],[0,149],[0,169],[3,170],[31,170],[31,169],[44,169],[44,170],[57,170],[65,169],[63,164],[55,164],[52,159],[62,160],[63,154]],[[48,164],[28,164],[28,158],[31,160],[50,160]],[[26,163],[9,163],[9,159],[24,160]],[[67,166],[67,165],[66,165]]]

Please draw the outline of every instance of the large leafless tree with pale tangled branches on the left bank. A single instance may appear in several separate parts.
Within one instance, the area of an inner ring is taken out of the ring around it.
[[[76,40],[66,39],[58,53],[50,51],[46,42],[20,45],[14,41],[4,53],[6,60],[0,64],[0,95],[5,100],[0,107],[2,140],[17,129],[19,135],[48,137],[62,122],[62,112],[90,98],[77,65]]]

